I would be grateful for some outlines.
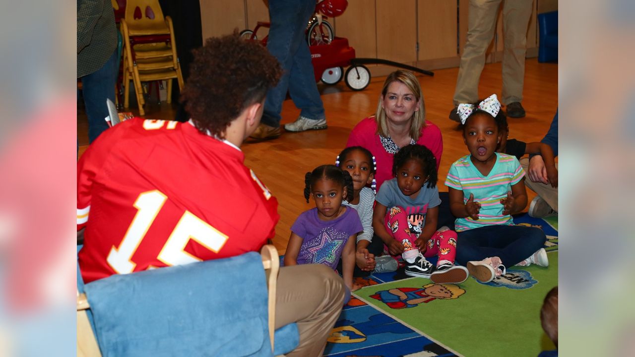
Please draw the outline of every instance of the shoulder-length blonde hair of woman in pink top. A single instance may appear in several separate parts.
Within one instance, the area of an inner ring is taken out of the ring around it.
[[[410,137],[413,140],[419,140],[421,136],[421,128],[425,126],[425,103],[424,103],[424,95],[421,93],[421,86],[419,85],[419,81],[417,77],[415,77],[412,72],[403,71],[401,69],[392,72],[386,77],[384,81],[384,88],[382,88],[382,96],[379,99],[379,104],[377,105],[377,112],[375,113],[375,121],[377,121],[377,133],[382,135],[382,137],[390,137],[388,133],[388,123],[386,118],[386,112],[382,107],[383,99],[388,91],[388,86],[394,82],[398,81],[399,83],[403,83],[408,90],[410,90],[415,98],[417,98],[419,110],[416,111],[412,116],[412,123],[410,124]]]

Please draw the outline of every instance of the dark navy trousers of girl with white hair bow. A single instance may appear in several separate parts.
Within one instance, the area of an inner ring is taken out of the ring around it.
[[[486,226],[457,232],[456,262],[465,266],[471,260],[499,257],[511,267],[530,257],[545,245],[542,229],[527,226]]]

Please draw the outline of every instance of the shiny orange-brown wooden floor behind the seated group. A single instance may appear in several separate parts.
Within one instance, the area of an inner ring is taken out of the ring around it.
[[[447,191],[443,182],[450,165],[460,156],[467,154],[467,148],[456,123],[448,119],[452,109],[458,68],[434,72],[434,77],[417,74],[425,98],[427,120],[439,126],[443,133],[443,157],[439,168],[439,191]],[[298,215],[314,207],[314,203],[304,201],[304,173],[316,166],[333,163],[335,156],[344,149],[351,129],[363,118],[377,109],[377,101],[385,77],[371,79],[363,91],[351,91],[344,81],[327,86],[318,84],[326,109],[327,130],[283,133],[280,138],[267,142],[243,145],[246,165],[271,189],[279,202],[281,216],[276,227],[274,244],[280,253],[286,250],[291,224]],[[500,97],[502,88],[501,66],[485,65],[481,75],[479,97],[491,93]],[[525,90],[523,106],[527,116],[522,119],[509,118],[510,138],[526,142],[539,141],[547,132],[551,119],[558,109],[558,64],[539,64],[536,58],[526,61]],[[147,104],[146,118],[172,119],[173,105]],[[137,112],[136,108],[128,111]],[[294,121],[299,114],[291,100],[283,105],[282,123]],[[88,144],[88,125],[83,109],[77,110],[77,136],[80,145]],[[80,147],[80,154],[85,146]],[[528,190],[529,199],[535,194]]]

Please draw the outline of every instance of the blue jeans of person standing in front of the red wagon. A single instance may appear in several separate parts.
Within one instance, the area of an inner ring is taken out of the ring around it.
[[[267,50],[283,67],[276,87],[267,92],[262,123],[280,126],[282,103],[289,91],[300,115],[324,119],[324,105],[315,81],[305,29],[316,7],[315,0],[270,0],[271,29]]]

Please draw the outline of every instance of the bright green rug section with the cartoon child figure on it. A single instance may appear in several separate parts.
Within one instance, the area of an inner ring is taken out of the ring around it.
[[[483,285],[469,278],[458,286],[446,286],[454,291],[453,299],[421,299],[427,302],[403,309],[392,309],[370,295],[393,288],[422,288],[432,282],[410,278],[367,286],[354,295],[458,354],[535,357],[540,351],[555,349],[540,326],[544,297],[558,285],[558,252],[548,256],[549,267],[532,265],[508,269],[509,276],[514,276],[513,271],[525,270],[537,280],[525,289]],[[512,277],[508,281],[513,280]],[[439,286],[429,289],[438,292]]]

